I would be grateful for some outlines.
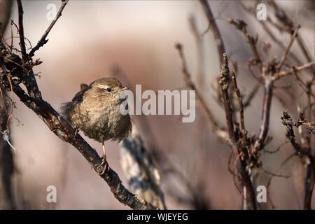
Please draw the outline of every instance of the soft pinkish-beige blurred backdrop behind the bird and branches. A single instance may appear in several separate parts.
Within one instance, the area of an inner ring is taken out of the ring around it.
[[[3,35],[8,38],[10,20],[18,22],[18,7],[15,1],[8,8],[4,7],[8,1],[1,0],[0,3],[1,20],[9,18]],[[34,46],[50,24],[47,18],[50,9],[47,6],[53,3],[58,9],[61,1],[22,3],[25,36]],[[259,40],[272,44],[270,55],[279,58],[282,51],[265,34],[258,20],[246,13],[237,1],[209,3],[217,18],[225,48],[232,60],[238,62],[239,87],[248,94],[256,83],[246,68],[251,49],[243,34],[222,18],[246,21],[250,34],[258,33]],[[300,32],[314,58],[314,2],[277,3],[285,8],[292,20],[302,25]],[[128,79],[133,87],[141,84],[142,90],[186,89],[179,55],[174,48],[176,43],[181,43],[193,81],[218,121],[225,125],[224,111],[214,97],[220,69],[216,43],[211,31],[204,34],[202,43],[196,42],[192,21],[200,34],[207,30],[207,18],[199,1],[69,1],[62,17],[50,31],[48,43],[35,55],[43,61],[34,69],[40,76],[37,80],[43,99],[58,109],[62,102],[71,100],[78,92],[80,83],[91,83],[97,78],[109,76],[123,83]],[[14,27],[13,36],[18,36]],[[290,36],[283,33],[278,37],[287,44]],[[262,44],[258,48],[261,49]],[[296,43],[292,50],[302,58]],[[115,72],[117,69],[113,68],[117,67],[124,76]],[[280,120],[282,111],[290,111],[296,120],[297,102],[302,103],[304,99],[300,96],[301,91],[295,90],[294,81],[288,78],[281,82],[293,85],[291,90],[295,92],[295,97],[288,96],[281,89],[276,90],[283,103],[274,99],[272,104],[269,135],[274,139],[267,146],[270,151],[286,140],[285,127]],[[73,146],[57,139],[17,97],[15,101],[17,108],[13,113],[19,121],[13,119],[10,130],[11,143],[16,149],[15,172],[11,179],[15,209],[128,209],[113,197],[106,183]],[[252,134],[259,131],[261,108],[262,88],[245,111],[246,127]],[[188,192],[176,176],[162,172],[162,162],[157,162],[168,209],[241,209],[241,195],[235,188],[232,174],[228,172],[230,147],[218,141],[212,133],[207,115],[199,104],[194,123],[181,123],[180,116],[133,116],[132,119],[139,127],[148,151],[154,150],[153,159],[159,152],[166,155],[167,161],[181,171],[197,194],[194,196]],[[92,139],[87,139],[87,142],[102,154],[102,144]],[[109,164],[127,186],[119,162],[118,143],[108,141],[106,149]],[[279,153],[264,155],[264,168],[274,171],[290,153],[293,153],[293,148],[286,144]],[[269,190],[276,209],[302,208],[302,171],[300,160],[293,158],[280,171],[292,176],[289,179],[273,179]],[[267,174],[261,173],[257,182],[266,185],[268,179]],[[48,186],[56,186],[57,203],[46,202]],[[314,201],[313,197],[313,207]]]

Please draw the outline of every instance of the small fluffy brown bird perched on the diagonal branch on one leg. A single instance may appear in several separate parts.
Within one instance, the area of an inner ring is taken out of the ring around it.
[[[80,92],[71,102],[64,103],[61,111],[73,127],[87,137],[102,142],[105,162],[104,141],[121,141],[132,130],[130,115],[120,112],[120,106],[126,100],[123,90],[128,87],[116,78],[101,78],[80,87]]]

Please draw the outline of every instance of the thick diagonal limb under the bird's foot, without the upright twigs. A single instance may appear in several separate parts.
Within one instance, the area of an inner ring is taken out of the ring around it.
[[[116,199],[132,209],[156,209],[148,202],[141,200],[137,195],[130,193],[121,183],[118,174],[109,167],[106,161],[102,165],[102,158],[97,152],[73,129],[71,124],[55,111],[43,99],[32,99],[22,90],[17,81],[13,81],[13,92],[29,109],[34,111],[41,120],[54,132],[59,139],[73,145],[90,163],[99,176],[106,181]],[[6,84],[8,85],[8,84]],[[105,169],[104,174],[102,170]]]

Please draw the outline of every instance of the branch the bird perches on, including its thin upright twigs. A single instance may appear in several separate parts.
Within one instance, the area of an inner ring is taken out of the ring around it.
[[[20,1],[18,1],[18,3],[19,2]],[[63,7],[66,2],[67,1],[62,2]],[[22,4],[19,3],[19,5],[19,15],[21,15],[22,19]],[[59,10],[59,16],[61,15],[61,11],[62,8]],[[48,28],[47,34],[53,24],[54,22],[52,22],[52,25]],[[22,20],[20,20],[20,28],[22,28]],[[24,35],[20,35],[24,39]],[[45,39],[45,37],[43,39]],[[8,52],[3,46],[3,44],[0,44],[0,64],[3,70],[0,83],[1,90],[11,91],[13,89],[12,91],[20,98],[21,102],[34,111],[34,113],[43,120],[49,129],[54,132],[57,137],[59,137],[59,139],[73,145],[90,163],[95,172],[97,172],[97,174],[106,181],[111,188],[111,192],[119,202],[132,209],[158,209],[152,204],[149,204],[137,197],[137,195],[130,193],[123,186],[118,174],[109,167],[108,162],[104,161],[102,163],[102,158],[99,157],[97,151],[87,144],[80,134],[73,129],[71,124],[60,116],[59,113],[57,113],[57,111],[55,111],[55,109],[53,109],[52,106],[50,106],[48,102],[45,102],[45,100],[41,97],[41,92],[38,89],[31,65],[28,64],[27,68],[23,67],[21,65],[22,59],[20,59],[18,55]],[[25,85],[28,94],[22,89],[22,87],[20,87],[21,84]]]

